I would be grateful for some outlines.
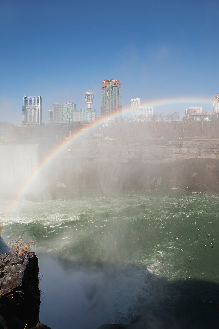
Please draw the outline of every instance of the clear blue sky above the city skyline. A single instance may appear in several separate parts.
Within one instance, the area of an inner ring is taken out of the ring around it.
[[[23,95],[41,95],[43,121],[55,102],[85,107],[101,84],[119,79],[130,99],[219,93],[219,1],[0,0],[0,121],[21,122]],[[150,105],[150,104],[148,104]],[[212,105],[197,101],[157,113]],[[181,115],[181,117],[182,117]]]

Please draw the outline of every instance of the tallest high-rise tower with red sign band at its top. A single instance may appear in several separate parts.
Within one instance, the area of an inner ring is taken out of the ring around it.
[[[119,80],[104,80],[102,83],[101,116],[122,116],[121,84]]]

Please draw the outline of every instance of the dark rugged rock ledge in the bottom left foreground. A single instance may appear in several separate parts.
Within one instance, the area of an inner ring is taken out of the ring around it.
[[[38,283],[34,252],[0,255],[0,329],[49,329],[39,323]]]

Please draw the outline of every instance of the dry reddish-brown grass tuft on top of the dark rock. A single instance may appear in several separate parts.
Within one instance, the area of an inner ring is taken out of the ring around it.
[[[21,234],[19,239],[10,242],[9,253],[27,256],[36,243],[37,241],[35,239],[27,241],[27,238],[23,238],[23,234]]]

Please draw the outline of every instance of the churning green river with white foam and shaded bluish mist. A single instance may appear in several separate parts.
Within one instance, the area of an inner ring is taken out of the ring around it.
[[[11,228],[6,242],[21,232],[37,239],[40,286],[49,288],[41,320],[61,329],[70,316],[75,327],[93,329],[162,309],[166,296],[178,296],[170,280],[217,282],[218,201],[178,190],[63,193],[21,200],[9,220],[1,200],[0,219]]]

